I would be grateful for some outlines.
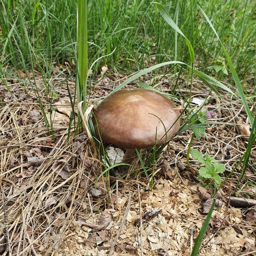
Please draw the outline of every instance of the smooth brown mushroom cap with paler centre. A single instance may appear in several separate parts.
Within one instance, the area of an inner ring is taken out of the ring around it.
[[[180,127],[180,109],[152,90],[117,91],[93,112],[96,133],[103,141],[123,148],[152,147],[155,140],[160,145],[173,138]]]

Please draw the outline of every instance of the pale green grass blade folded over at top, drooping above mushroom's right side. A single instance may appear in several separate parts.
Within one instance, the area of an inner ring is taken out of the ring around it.
[[[176,23],[173,21],[173,19],[169,16],[168,12],[166,11],[166,9],[164,8],[164,6],[160,3],[157,2],[152,2],[153,4],[156,5],[157,9],[159,10],[160,14],[162,15],[162,17],[165,19],[165,21],[175,30],[177,31],[179,34],[181,34],[187,43],[187,47],[188,47],[188,51],[189,51],[189,55],[190,55],[190,60],[191,62],[195,62],[195,53],[194,53],[194,49],[193,46],[191,45],[190,41],[187,39],[187,37],[183,34],[183,32],[180,30],[180,28],[176,25]]]

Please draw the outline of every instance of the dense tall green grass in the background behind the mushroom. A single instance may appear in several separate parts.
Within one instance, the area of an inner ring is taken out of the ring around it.
[[[199,5],[216,28],[223,45],[230,53],[238,76],[245,79],[255,72],[255,4],[253,1],[161,1],[170,17],[192,42],[199,70],[216,78],[225,74],[207,70],[211,62],[223,56],[220,45],[205,23]],[[28,41],[37,59],[36,69],[51,76],[54,62],[72,63],[75,59],[76,4],[74,1],[1,1],[0,47],[1,67],[31,67]],[[214,5],[214,8],[212,8]],[[27,36],[24,30],[27,30]],[[88,1],[88,58],[121,72],[123,68],[139,71],[148,60],[160,63],[169,60],[187,62],[189,54],[183,40],[161,18],[149,1]],[[175,48],[177,47],[177,48]],[[175,51],[176,49],[176,51]],[[178,49],[178,51],[177,51]],[[11,65],[11,66],[10,66]],[[72,65],[71,65],[72,66]],[[10,71],[8,69],[8,71]],[[254,82],[250,80],[249,83]],[[248,81],[247,81],[248,83]]]

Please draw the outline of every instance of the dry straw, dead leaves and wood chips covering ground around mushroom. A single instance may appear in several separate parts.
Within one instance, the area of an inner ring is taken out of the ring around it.
[[[57,84],[58,79],[52,80],[52,84]],[[52,111],[55,115],[54,140],[44,125],[32,88],[27,87],[25,93],[21,83],[10,79],[11,95],[0,84],[0,254],[189,255],[205,219],[196,178],[198,164],[190,159],[191,167],[186,166],[190,131],[175,138],[156,160],[153,191],[148,190],[147,180],[138,170],[138,177],[131,175],[119,181],[115,189],[108,185],[110,177],[102,178],[97,183],[101,196],[95,198],[92,193],[102,172],[101,165],[93,157],[84,133],[71,132],[68,141],[70,105],[66,88],[57,88],[62,103],[55,102],[53,112],[40,78],[37,82],[46,113]],[[74,81],[68,82],[74,93]],[[161,83],[159,89],[165,90],[165,81]],[[102,79],[92,96],[106,96],[112,87],[107,79]],[[199,82],[198,87],[202,90],[194,94],[208,94]],[[212,99],[207,108],[218,106],[214,119],[231,125],[209,126],[209,139],[195,140],[193,144],[193,148],[225,163],[226,175],[241,159],[247,143],[236,128],[239,118],[246,122],[242,105],[225,105],[228,102],[229,98],[222,102]],[[244,185],[240,197],[255,199],[255,161],[254,146],[251,164],[240,185]],[[219,193],[224,204],[212,215],[199,255],[256,252],[256,209],[228,204],[239,168]],[[212,193],[211,189],[208,193]],[[7,250],[5,239],[9,241]]]

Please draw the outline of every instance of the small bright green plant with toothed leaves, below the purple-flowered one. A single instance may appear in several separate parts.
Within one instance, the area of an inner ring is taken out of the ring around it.
[[[199,164],[205,164],[200,167],[198,178],[202,181],[203,185],[208,187],[214,185],[215,187],[221,184],[221,177],[219,174],[225,172],[225,165],[218,163],[214,158],[205,153],[205,158],[196,150],[191,149],[191,155],[198,160]]]

